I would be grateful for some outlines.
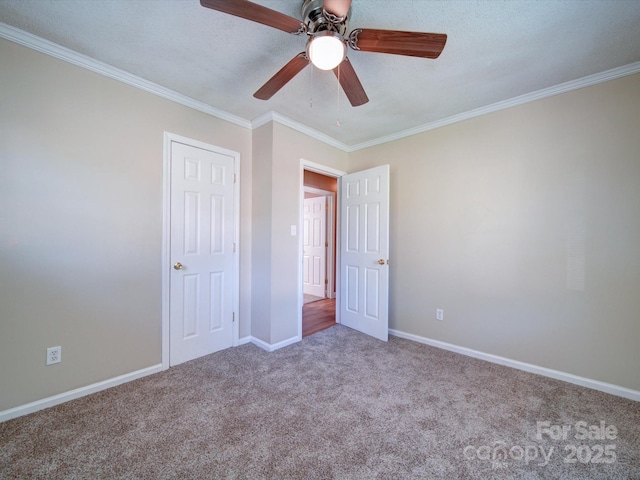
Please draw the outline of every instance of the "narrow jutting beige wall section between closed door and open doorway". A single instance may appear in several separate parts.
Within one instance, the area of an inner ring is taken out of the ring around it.
[[[253,150],[252,333],[274,345],[298,335],[300,238],[291,226],[300,226],[300,161],[344,169],[347,154],[279,123],[254,130]]]

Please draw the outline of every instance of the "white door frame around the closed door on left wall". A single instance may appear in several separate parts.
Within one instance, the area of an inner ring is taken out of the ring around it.
[[[169,368],[169,321],[170,321],[170,280],[171,280],[171,143],[182,143],[195,148],[209,150],[234,158],[234,188],[233,188],[233,243],[235,246],[233,259],[232,308],[233,346],[238,346],[240,335],[240,153],[218,147],[209,143],[183,137],[171,132],[164,132],[163,136],[163,164],[162,164],[162,369]]]

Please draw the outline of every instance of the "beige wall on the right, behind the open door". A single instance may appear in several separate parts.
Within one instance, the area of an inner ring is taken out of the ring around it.
[[[638,132],[634,75],[352,153],[391,165],[391,328],[640,390]]]

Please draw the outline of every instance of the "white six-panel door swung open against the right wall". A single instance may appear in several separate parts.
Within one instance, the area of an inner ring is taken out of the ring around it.
[[[340,178],[340,320],[387,341],[389,165]]]

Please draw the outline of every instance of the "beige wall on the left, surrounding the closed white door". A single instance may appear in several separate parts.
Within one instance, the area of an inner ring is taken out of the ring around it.
[[[164,131],[241,154],[249,335],[251,131],[2,39],[0,59],[0,411],[161,362]]]

